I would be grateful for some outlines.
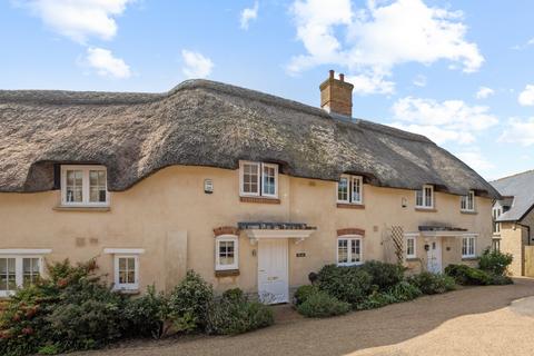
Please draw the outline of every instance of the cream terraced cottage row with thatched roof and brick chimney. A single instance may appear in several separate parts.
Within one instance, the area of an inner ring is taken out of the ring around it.
[[[492,244],[498,192],[427,138],[206,80],[166,93],[0,92],[0,295],[44,260],[96,257],[115,287],[195,269],[267,303],[325,264],[441,271]]]

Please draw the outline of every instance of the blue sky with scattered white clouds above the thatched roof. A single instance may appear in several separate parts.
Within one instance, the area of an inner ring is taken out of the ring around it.
[[[167,91],[208,78],[428,136],[482,176],[534,168],[534,2],[8,0],[0,88]]]

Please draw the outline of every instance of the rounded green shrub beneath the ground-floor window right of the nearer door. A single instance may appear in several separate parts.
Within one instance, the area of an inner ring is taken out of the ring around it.
[[[364,269],[327,265],[318,273],[318,288],[342,301],[356,305],[372,290],[373,277]]]

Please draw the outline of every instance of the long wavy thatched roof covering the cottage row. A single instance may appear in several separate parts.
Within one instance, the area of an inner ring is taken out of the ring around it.
[[[219,82],[167,93],[0,91],[0,191],[52,189],[55,164],[105,165],[118,191],[166,166],[236,169],[239,159],[295,177],[354,172],[377,186],[498,196],[423,136]]]

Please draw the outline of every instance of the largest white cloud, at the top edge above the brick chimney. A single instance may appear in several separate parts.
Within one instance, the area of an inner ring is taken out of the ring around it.
[[[306,53],[291,58],[289,72],[335,65],[349,75],[384,79],[405,62],[446,59],[465,72],[484,62],[476,43],[465,39],[462,12],[429,8],[422,0],[369,0],[356,10],[350,0],[296,0],[291,12]]]

